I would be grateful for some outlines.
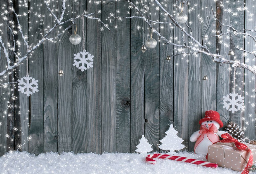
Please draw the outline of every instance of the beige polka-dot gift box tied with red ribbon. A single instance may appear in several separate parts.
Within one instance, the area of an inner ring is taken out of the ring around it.
[[[242,144],[233,138],[223,139],[208,146],[206,158],[220,167],[248,173],[247,169],[256,163],[256,145]]]

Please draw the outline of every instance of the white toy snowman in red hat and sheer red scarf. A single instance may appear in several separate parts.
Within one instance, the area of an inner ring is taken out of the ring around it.
[[[208,152],[208,146],[220,140],[222,134],[227,132],[219,131],[220,127],[223,127],[223,123],[220,120],[220,114],[217,111],[206,111],[205,117],[199,120],[200,129],[194,132],[190,141],[195,142],[194,151],[196,154],[206,155]]]

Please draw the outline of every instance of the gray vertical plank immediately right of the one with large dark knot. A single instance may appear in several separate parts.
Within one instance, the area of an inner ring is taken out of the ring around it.
[[[135,3],[136,1],[132,0],[132,2]],[[136,13],[132,11],[132,15],[136,15]],[[141,52],[143,31],[136,29],[136,26],[141,25],[142,22],[142,19],[131,19],[131,153],[135,152],[141,135],[145,135],[145,53]]]

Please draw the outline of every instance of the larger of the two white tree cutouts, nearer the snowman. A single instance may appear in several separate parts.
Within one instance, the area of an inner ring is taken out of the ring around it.
[[[174,150],[180,150],[185,147],[183,144],[181,144],[184,140],[177,135],[178,131],[173,128],[172,124],[165,134],[166,136],[160,140],[160,142],[162,142],[162,144],[158,146],[160,149],[170,150],[170,152],[173,152]]]

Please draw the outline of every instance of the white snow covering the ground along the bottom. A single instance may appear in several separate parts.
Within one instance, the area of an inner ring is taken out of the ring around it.
[[[204,156],[192,152],[175,153],[205,160]],[[240,173],[231,169],[218,167],[217,169],[198,166],[195,164],[176,162],[172,160],[157,159],[155,165],[145,162],[142,154],[104,153],[102,155],[88,153],[74,155],[71,152],[47,153],[39,156],[27,152],[7,153],[0,157],[0,173],[61,173],[61,174],[83,174],[83,173]]]

